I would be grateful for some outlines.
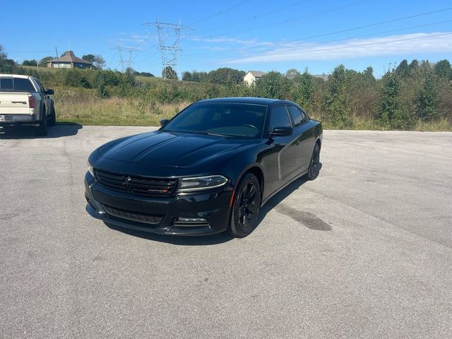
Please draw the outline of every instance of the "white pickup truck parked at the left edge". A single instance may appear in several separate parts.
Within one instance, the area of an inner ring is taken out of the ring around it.
[[[46,136],[56,122],[53,94],[32,76],[0,74],[0,126],[35,126]]]

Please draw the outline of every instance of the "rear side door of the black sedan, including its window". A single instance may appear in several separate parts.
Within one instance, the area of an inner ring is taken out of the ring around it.
[[[287,105],[294,124],[294,133],[299,135],[299,172],[304,172],[309,167],[312,150],[314,149],[314,124],[310,124],[307,114],[295,105]]]

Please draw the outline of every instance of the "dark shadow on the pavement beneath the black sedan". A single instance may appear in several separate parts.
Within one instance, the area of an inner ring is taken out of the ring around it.
[[[320,169],[321,169],[321,163]],[[301,177],[295,182],[292,182],[291,184],[287,185],[284,189],[278,192],[278,194],[275,194],[273,197],[268,200],[268,202],[261,208],[261,211],[259,212],[259,220],[258,225],[259,227],[261,224],[263,218],[266,217],[267,213],[278,206],[278,204],[283,201],[287,196],[290,196],[294,191],[299,189],[302,184],[307,182],[307,179],[305,177]],[[174,244],[174,245],[182,245],[182,246],[206,246],[206,245],[215,245],[215,244],[222,244],[224,242],[229,242],[230,240],[234,239],[230,235],[226,233],[220,233],[220,234],[213,234],[213,235],[206,235],[206,236],[174,236],[174,235],[162,235],[162,234],[154,234],[154,233],[148,233],[148,232],[141,232],[137,230],[129,230],[128,228],[120,227],[117,225],[112,225],[108,222],[104,222],[107,227],[109,227],[112,230],[116,230],[118,232],[122,232],[125,234],[132,235],[133,237],[139,237],[142,239],[148,239],[153,240],[155,242],[166,242],[168,244]]]

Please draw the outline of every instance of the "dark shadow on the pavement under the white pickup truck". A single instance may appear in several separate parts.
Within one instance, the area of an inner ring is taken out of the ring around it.
[[[47,136],[37,136],[33,126],[4,126],[0,127],[0,139],[61,138],[75,136],[79,129],[83,129],[80,124],[57,124],[57,126],[49,127]]]

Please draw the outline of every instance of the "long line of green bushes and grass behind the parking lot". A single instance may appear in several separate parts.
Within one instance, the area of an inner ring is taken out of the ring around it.
[[[135,76],[131,70],[16,66],[6,71],[35,76],[54,88],[59,121],[81,124],[157,125],[190,102],[239,96],[292,100],[327,129],[452,131],[452,68],[447,60],[404,60],[379,79],[371,67],[359,72],[339,65],[326,80],[307,70],[270,71],[251,86],[221,78],[213,78],[218,83],[165,81]]]

